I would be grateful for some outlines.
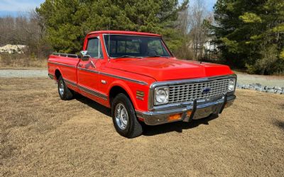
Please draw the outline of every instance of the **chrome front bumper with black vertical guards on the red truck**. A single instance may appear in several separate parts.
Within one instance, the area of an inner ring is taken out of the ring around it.
[[[208,117],[210,114],[220,114],[225,107],[233,104],[236,96],[234,94],[224,95],[217,97],[214,100],[207,100],[180,104],[175,107],[163,107],[163,109],[157,109],[152,112],[138,112],[137,117],[140,117],[148,125],[157,125],[168,123],[168,117],[173,114],[182,114],[181,119],[170,122],[190,122],[191,119],[202,119]],[[192,112],[190,116],[187,116],[187,112]]]

